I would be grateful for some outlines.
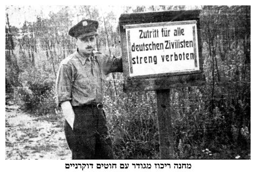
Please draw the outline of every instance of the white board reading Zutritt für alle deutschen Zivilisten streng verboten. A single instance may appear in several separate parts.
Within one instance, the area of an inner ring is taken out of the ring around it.
[[[199,70],[196,20],[124,28],[130,77]]]

